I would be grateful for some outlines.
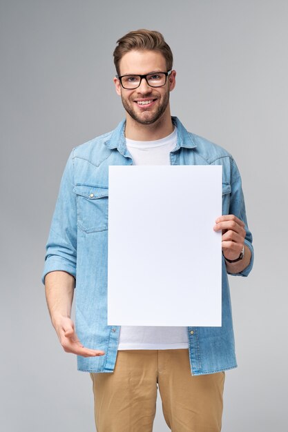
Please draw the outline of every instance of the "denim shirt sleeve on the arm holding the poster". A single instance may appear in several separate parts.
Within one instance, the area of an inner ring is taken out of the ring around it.
[[[248,228],[240,173],[236,165],[236,162],[233,159],[231,161],[231,199],[230,199],[229,214],[236,215],[245,224],[246,236],[244,239],[244,244],[246,244],[251,251],[251,259],[249,265],[246,268],[244,268],[244,270],[242,270],[240,273],[229,273],[229,272],[228,273],[229,275],[233,275],[233,276],[248,276],[253,267],[253,262],[254,262],[254,251],[252,246],[253,237],[251,231]]]

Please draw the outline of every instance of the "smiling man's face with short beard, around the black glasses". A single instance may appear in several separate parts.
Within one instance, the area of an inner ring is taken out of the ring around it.
[[[127,52],[119,63],[120,75],[146,75],[150,72],[167,72],[166,61],[157,51]],[[171,72],[163,87],[153,88],[142,79],[138,88],[126,90],[119,79],[114,79],[116,92],[128,113],[140,124],[153,124],[160,119],[169,106],[169,94],[175,87],[176,72]],[[145,101],[145,104],[141,102]],[[147,104],[148,101],[148,104]]]

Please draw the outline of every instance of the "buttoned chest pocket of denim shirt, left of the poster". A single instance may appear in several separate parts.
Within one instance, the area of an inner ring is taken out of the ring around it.
[[[77,226],[85,233],[108,229],[108,188],[90,184],[76,184]]]

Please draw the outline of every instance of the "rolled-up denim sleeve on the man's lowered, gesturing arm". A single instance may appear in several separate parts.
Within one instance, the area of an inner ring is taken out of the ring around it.
[[[73,152],[61,179],[55,212],[46,244],[42,282],[51,271],[66,271],[76,277],[77,204],[73,192]]]

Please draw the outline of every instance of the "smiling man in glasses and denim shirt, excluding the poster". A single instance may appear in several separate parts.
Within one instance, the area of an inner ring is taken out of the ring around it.
[[[171,117],[176,72],[162,35],[137,30],[117,43],[114,83],[126,120],[68,159],[44,269],[52,324],[91,374],[98,432],[152,431],[157,385],[171,430],[220,431],[224,371],[237,366],[227,273],[247,276],[253,264],[240,175],[226,150]],[[222,165],[223,215],[211,226],[222,230],[222,327],[107,325],[108,166],[132,164]]]

